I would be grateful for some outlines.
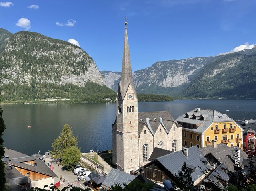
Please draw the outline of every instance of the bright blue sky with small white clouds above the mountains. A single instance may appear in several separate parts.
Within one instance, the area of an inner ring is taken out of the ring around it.
[[[99,70],[121,71],[124,18],[132,70],[256,44],[256,0],[0,0],[0,28],[79,45]]]

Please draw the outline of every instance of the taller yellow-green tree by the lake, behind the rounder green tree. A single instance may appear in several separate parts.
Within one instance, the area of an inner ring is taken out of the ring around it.
[[[71,127],[68,124],[64,124],[60,136],[52,143],[50,154],[52,158],[62,158],[65,149],[77,145],[77,137],[74,137]]]

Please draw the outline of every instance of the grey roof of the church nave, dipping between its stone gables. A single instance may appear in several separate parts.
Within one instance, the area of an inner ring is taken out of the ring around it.
[[[140,112],[138,113],[138,131],[142,131],[146,125],[151,133],[154,135],[159,125],[162,123],[164,129],[169,133],[174,119],[169,111],[156,111],[156,112]]]

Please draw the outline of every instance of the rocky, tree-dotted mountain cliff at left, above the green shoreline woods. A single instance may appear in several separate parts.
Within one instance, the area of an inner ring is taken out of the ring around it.
[[[90,55],[66,41],[22,31],[9,35],[2,44],[2,83],[105,84]]]

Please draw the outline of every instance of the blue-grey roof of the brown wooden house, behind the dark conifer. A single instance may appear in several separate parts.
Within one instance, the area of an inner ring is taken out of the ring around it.
[[[188,148],[188,157],[186,157],[182,151],[176,151],[165,156],[158,157],[156,160],[158,160],[173,175],[175,175],[175,173],[178,174],[178,171],[181,171],[184,162],[189,166],[196,167],[194,172],[191,174],[193,181],[195,181],[198,179],[198,176],[201,177],[204,174],[200,168],[203,170],[210,169],[210,165],[204,164],[200,158],[204,158],[202,152],[197,148],[197,146],[192,146]]]

